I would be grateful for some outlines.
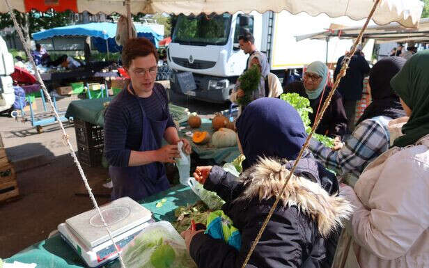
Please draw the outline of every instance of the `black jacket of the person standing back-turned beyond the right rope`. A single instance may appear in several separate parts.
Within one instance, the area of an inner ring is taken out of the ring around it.
[[[334,79],[341,70],[341,63],[344,56],[338,58],[334,72]],[[364,90],[364,77],[369,74],[370,67],[364,56],[355,53],[350,59],[350,64],[345,73],[345,77],[341,78],[338,85],[338,92],[343,96],[343,100],[361,100],[362,91]]]

